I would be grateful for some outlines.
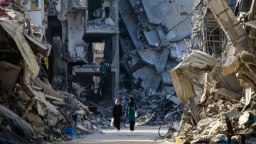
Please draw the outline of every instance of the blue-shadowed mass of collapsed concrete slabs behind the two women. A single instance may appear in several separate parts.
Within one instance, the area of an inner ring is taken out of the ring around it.
[[[181,60],[183,39],[191,36],[192,27],[190,20],[183,20],[185,16],[169,10],[181,6],[181,11],[189,14],[192,4],[193,1],[119,1],[120,81],[125,86],[132,84],[128,91],[138,92],[122,92],[120,98],[127,101],[129,96],[139,96],[136,100],[142,107],[138,125],[159,125],[168,111],[179,106],[169,72]],[[171,18],[185,24],[175,26]]]

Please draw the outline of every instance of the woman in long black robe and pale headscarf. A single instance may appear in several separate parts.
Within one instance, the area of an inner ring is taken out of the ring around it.
[[[119,99],[115,100],[112,118],[114,118],[114,130],[119,132],[120,122],[121,122],[121,118],[122,118],[122,106],[120,104]]]

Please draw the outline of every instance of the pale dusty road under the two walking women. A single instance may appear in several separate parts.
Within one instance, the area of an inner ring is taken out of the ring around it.
[[[167,132],[167,128],[161,128],[161,134],[164,135]],[[158,127],[135,127],[134,132],[130,132],[129,128],[122,128],[119,133],[113,129],[103,130],[104,134],[87,135],[85,138],[73,140],[67,143],[111,143],[111,144],[146,144],[146,143],[166,143],[174,144],[170,142],[164,142],[164,140],[156,140],[159,138]]]

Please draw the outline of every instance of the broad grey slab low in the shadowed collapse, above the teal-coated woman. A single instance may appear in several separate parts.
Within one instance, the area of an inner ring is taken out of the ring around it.
[[[142,87],[144,89],[150,88],[156,91],[159,88],[161,76],[156,74],[156,70],[149,66],[137,70],[132,75],[135,79],[139,79],[139,77],[142,79]]]

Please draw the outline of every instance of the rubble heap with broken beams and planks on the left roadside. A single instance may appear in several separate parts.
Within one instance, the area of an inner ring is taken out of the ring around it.
[[[0,4],[1,143],[56,143],[101,133],[106,119],[92,112],[83,117],[87,107],[76,96],[51,87],[43,62],[51,45],[26,8],[20,1]]]

